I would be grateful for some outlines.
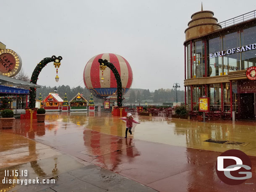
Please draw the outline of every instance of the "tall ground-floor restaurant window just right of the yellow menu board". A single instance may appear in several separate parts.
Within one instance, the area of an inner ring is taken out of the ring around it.
[[[221,111],[221,86],[220,83],[209,85],[210,111]]]

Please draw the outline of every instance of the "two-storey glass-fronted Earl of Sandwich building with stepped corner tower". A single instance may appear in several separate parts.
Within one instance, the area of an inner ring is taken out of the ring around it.
[[[209,97],[210,112],[256,119],[256,10],[217,23],[214,13],[194,13],[185,30],[185,104],[198,110]]]

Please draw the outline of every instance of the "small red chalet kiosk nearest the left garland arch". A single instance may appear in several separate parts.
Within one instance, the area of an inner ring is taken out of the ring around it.
[[[63,99],[57,93],[49,93],[42,103],[42,108],[46,111],[61,111]]]

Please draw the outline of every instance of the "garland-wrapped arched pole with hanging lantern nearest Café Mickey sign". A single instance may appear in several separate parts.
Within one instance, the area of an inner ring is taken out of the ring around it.
[[[37,67],[34,69],[34,72],[32,73],[32,76],[31,76],[30,83],[37,84],[39,73],[44,68],[44,66],[46,66],[47,63],[49,63],[49,62],[54,62],[55,68],[57,68],[56,70],[58,70],[58,67],[60,67],[60,61],[61,60],[62,60],[61,56],[56,57],[55,55],[53,55],[52,57],[44,58],[41,62],[39,62],[39,64],[37,64]],[[57,75],[56,75],[56,78],[58,78]],[[30,87],[30,90],[29,90],[29,108],[35,108],[35,106],[36,106],[36,95],[37,95],[37,88]]]

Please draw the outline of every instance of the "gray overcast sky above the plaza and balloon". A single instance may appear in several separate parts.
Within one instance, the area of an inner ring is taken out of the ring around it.
[[[1,0],[0,8],[0,42],[21,56],[26,74],[44,57],[63,57],[59,82],[50,63],[39,85],[84,86],[87,61],[115,53],[131,65],[131,88],[154,91],[177,82],[184,90],[184,31],[201,0]],[[222,22],[256,10],[256,1],[204,1],[203,8]]]

